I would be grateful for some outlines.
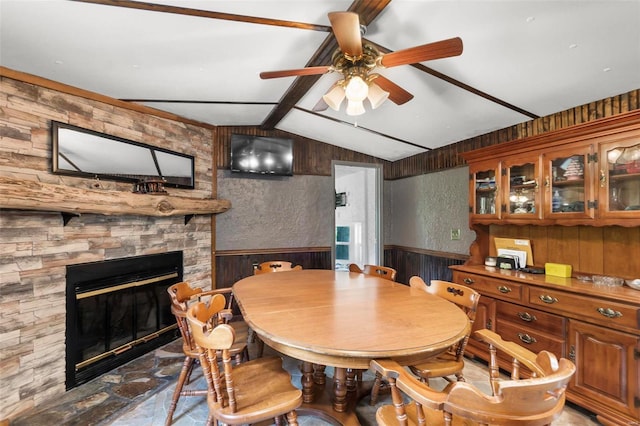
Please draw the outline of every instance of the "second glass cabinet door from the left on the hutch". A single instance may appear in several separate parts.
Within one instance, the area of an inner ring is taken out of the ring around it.
[[[503,215],[512,219],[540,218],[540,196],[538,191],[540,169],[538,157],[505,162],[503,187],[508,188],[503,204]]]

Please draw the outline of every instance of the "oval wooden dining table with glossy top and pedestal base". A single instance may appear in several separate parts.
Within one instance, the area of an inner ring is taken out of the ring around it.
[[[358,371],[373,359],[409,365],[469,330],[454,304],[376,276],[333,270],[255,275],[233,285],[247,324],[274,350],[302,361],[301,413],[357,425]],[[334,367],[333,380],[324,366]],[[256,383],[259,386],[259,383]]]

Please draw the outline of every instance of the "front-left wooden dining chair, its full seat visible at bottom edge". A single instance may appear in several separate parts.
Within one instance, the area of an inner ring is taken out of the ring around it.
[[[206,305],[196,303],[187,311],[187,320],[200,355],[207,381],[207,424],[258,423],[274,419],[297,426],[296,409],[302,404],[302,391],[291,383],[280,357],[263,357],[232,365],[231,350],[237,337],[228,324],[208,326]],[[222,353],[222,365],[217,354]]]

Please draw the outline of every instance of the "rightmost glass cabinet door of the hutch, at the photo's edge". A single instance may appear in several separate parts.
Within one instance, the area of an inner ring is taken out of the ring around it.
[[[601,144],[603,216],[640,215],[640,138]]]

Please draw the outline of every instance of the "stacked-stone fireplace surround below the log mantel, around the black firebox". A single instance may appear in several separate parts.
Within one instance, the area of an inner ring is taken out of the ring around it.
[[[182,279],[210,288],[210,216],[185,225],[181,216],[88,214],[64,225],[60,213],[2,211],[0,419],[36,409],[67,390],[68,267],[176,251],[183,253]],[[159,300],[162,295],[168,301],[166,290],[158,291]]]

